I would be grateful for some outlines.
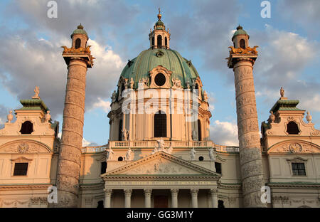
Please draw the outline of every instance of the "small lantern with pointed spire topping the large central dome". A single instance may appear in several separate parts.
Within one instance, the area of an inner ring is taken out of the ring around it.
[[[170,33],[169,28],[166,30],[164,22],[161,21],[161,11],[159,8],[158,21],[154,25],[154,30],[150,28],[149,41],[150,48],[169,48],[170,47]]]

